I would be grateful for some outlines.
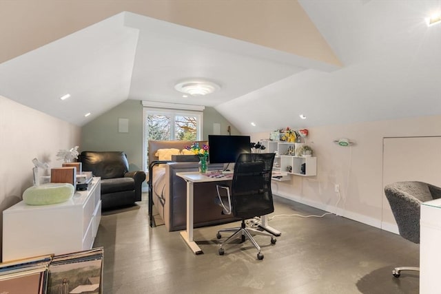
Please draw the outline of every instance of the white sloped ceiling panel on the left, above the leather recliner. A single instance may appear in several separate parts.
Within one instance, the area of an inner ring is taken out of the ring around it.
[[[124,14],[0,64],[0,95],[76,125],[127,100],[138,30]],[[71,98],[61,101],[60,97]]]

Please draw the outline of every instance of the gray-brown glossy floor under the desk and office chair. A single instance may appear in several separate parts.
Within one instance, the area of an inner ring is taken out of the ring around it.
[[[274,204],[271,216],[323,213],[283,198]],[[194,255],[179,232],[149,227],[145,200],[105,213],[94,244],[104,246],[103,293],[418,293],[418,273],[391,275],[394,266],[418,266],[418,244],[400,235],[335,215],[276,217],[277,243],[256,238],[263,260],[249,242],[218,255],[216,229],[236,224],[196,229],[204,254]]]

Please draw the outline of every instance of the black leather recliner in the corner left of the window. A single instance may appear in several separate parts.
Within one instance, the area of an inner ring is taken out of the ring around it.
[[[123,151],[83,151],[83,171],[101,177],[101,209],[115,209],[141,201],[144,171],[130,171]]]

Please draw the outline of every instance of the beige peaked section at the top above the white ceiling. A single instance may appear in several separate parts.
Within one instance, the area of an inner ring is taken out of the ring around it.
[[[0,63],[124,11],[341,65],[294,0],[1,1]]]

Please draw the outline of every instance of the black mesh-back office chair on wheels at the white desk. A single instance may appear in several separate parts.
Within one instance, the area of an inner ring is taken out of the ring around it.
[[[253,235],[266,235],[271,237],[271,244],[276,244],[276,238],[271,233],[249,228],[245,224],[245,220],[255,216],[264,216],[274,211],[271,193],[273,162],[274,154],[241,154],[234,165],[231,187],[217,185],[216,202],[223,208],[223,213],[233,213],[234,217],[242,219],[240,227],[222,229],[216,234],[216,238],[220,239],[221,232],[233,233],[220,244],[219,255],[224,255],[223,246],[225,244],[239,236],[242,242],[245,242],[245,238],[247,238],[256,247],[258,260],[263,260],[263,254],[260,253],[260,246],[254,240]],[[225,193],[222,193],[223,190]]]

